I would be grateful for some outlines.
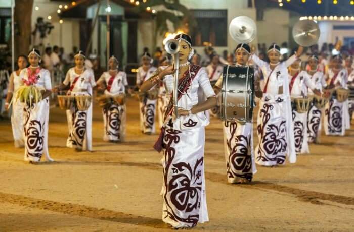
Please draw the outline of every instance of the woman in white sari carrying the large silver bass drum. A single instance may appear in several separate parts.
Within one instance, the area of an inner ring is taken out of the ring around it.
[[[235,50],[236,66],[245,66],[251,55],[251,48],[240,43]],[[259,90],[259,82],[255,83]],[[223,76],[215,84],[216,93],[223,87]],[[225,121],[224,153],[229,183],[248,183],[257,172],[253,150],[253,123],[241,124],[236,121]]]

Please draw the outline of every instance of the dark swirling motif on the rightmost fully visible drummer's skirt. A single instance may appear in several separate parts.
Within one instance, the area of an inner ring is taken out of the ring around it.
[[[329,133],[341,133],[342,131],[342,106],[334,104],[334,100],[329,101],[329,108],[326,109],[325,113],[328,123]]]

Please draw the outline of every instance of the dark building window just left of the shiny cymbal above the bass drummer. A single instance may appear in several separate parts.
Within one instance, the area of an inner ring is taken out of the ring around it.
[[[212,46],[227,46],[227,10],[192,10],[197,27],[191,32],[195,46],[211,43]]]

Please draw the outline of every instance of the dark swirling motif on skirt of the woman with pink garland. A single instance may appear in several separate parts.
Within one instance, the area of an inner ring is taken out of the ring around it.
[[[39,161],[43,153],[45,122],[41,124],[38,120],[30,120],[33,108],[34,105],[24,109],[25,155]]]

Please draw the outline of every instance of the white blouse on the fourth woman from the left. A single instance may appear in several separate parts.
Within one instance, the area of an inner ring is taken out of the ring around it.
[[[101,82],[105,82],[106,86],[107,86],[111,77],[112,76],[111,76],[111,74],[109,74],[109,72],[104,72],[101,75],[101,77],[97,80],[96,84],[99,84]],[[128,81],[126,79],[126,73],[119,71],[113,79],[110,91],[108,91],[108,89],[106,89],[105,94],[116,95],[119,93],[124,93],[126,85],[128,85]]]

